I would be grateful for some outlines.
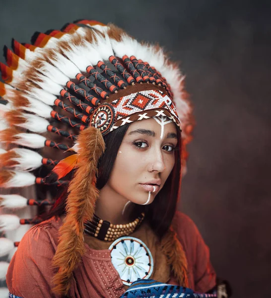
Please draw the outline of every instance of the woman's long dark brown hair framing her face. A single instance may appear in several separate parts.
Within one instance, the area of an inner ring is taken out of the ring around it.
[[[110,177],[118,150],[128,128],[129,124],[126,124],[104,137],[106,150],[98,163],[99,174],[96,183],[98,189],[102,189]],[[135,207],[135,213],[142,210],[145,212],[145,219],[160,239],[164,236],[171,225],[180,194],[181,137],[180,134],[177,135],[178,148],[174,152],[175,164],[163,188],[157,194],[152,204],[147,206],[136,205]],[[65,188],[56,200],[55,205],[46,215],[45,219],[65,214],[67,196],[68,191],[67,188]]]

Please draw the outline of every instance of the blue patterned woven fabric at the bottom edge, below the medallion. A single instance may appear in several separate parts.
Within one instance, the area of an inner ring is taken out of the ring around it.
[[[162,284],[154,280],[134,282],[120,298],[209,298],[214,294],[194,293],[189,288]]]

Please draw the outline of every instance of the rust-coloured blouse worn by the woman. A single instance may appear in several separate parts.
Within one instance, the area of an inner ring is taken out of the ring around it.
[[[6,275],[10,293],[23,298],[59,298],[51,293],[53,288],[52,258],[58,244],[61,219],[33,226],[21,240]],[[210,264],[209,249],[194,222],[177,212],[173,227],[182,243],[188,260],[189,288],[196,292],[207,292],[215,286],[215,272]],[[141,239],[149,248],[154,260],[151,279],[162,283],[176,284],[171,278],[165,256],[160,252],[157,238],[147,224],[141,224],[131,234]],[[69,297],[71,298],[119,298],[125,291],[120,276],[111,262],[111,242],[86,237],[86,254],[74,271]]]

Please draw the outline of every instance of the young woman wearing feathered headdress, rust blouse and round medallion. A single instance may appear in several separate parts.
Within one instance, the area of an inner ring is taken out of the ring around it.
[[[159,47],[93,21],[13,50],[1,65],[10,128],[0,139],[20,148],[1,155],[1,186],[68,186],[21,240],[6,276],[10,293],[119,298],[138,280],[212,290],[208,248],[176,212],[192,128],[178,68]],[[48,159],[44,147],[66,152]],[[43,180],[26,172],[44,164],[56,166]]]

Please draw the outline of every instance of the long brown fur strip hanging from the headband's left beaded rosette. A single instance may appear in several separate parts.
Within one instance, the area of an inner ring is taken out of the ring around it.
[[[67,198],[67,216],[60,228],[60,242],[53,259],[58,268],[53,282],[53,292],[67,295],[73,279],[72,272],[85,252],[83,227],[91,220],[94,206],[98,199],[96,184],[97,162],[105,150],[102,134],[94,127],[89,127],[78,136],[79,156],[77,170],[69,184]]]

